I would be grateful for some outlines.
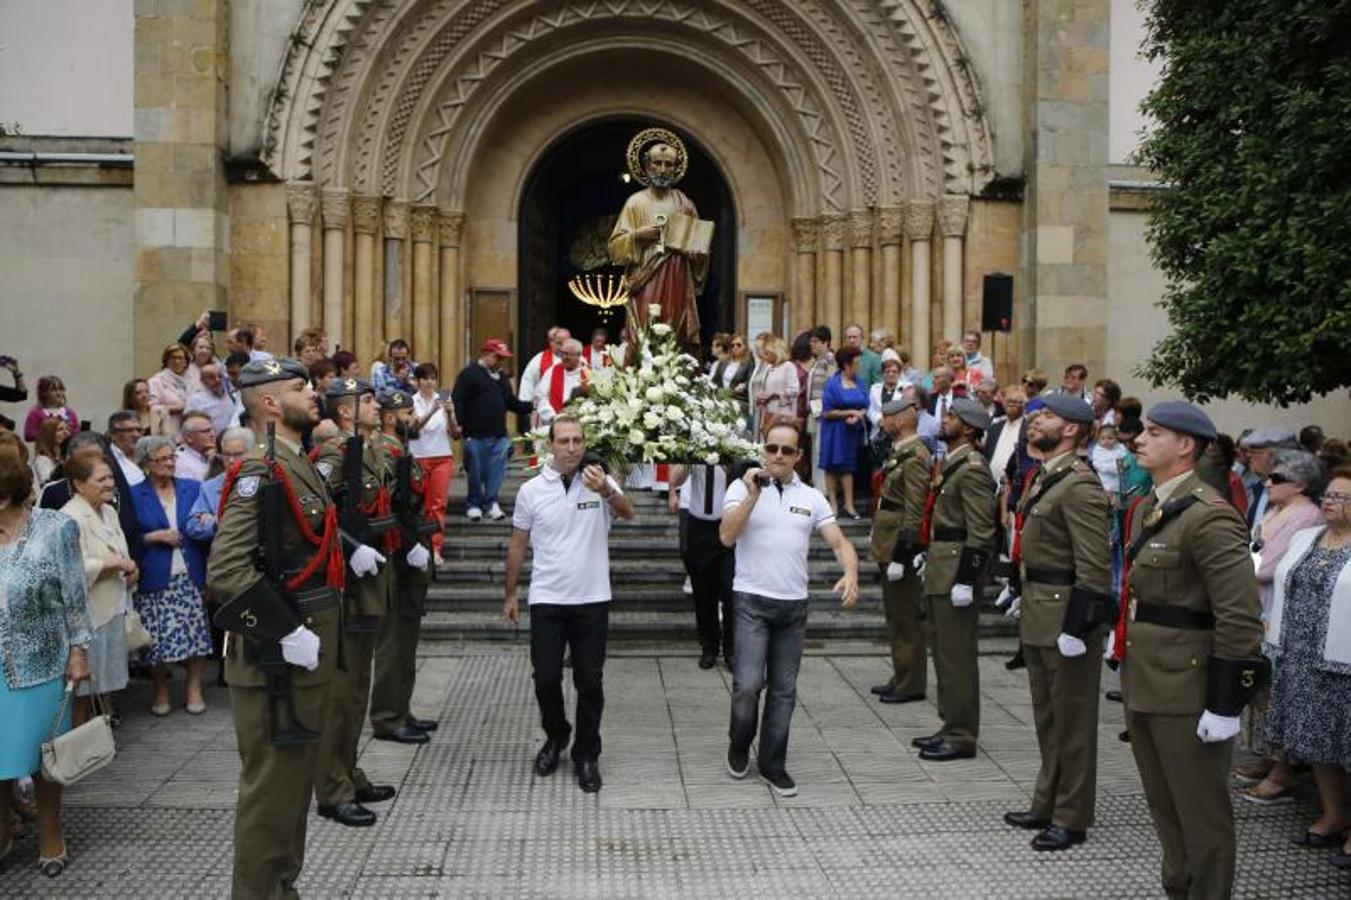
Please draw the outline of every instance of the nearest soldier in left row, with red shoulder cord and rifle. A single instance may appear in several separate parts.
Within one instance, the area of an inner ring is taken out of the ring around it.
[[[301,432],[319,420],[308,370],[295,359],[250,362],[239,388],[250,424],[276,434],[273,459],[259,445],[227,474],[207,564],[207,586],[223,604],[216,622],[227,631],[226,677],[242,762],[231,893],[295,897],[319,769],[315,732],[324,728],[338,674],[343,559],[328,491],[300,447]],[[278,482],[286,509],[266,522],[262,497]],[[269,539],[284,558],[280,581],[263,572],[259,546]],[[266,668],[265,653],[272,655]]]

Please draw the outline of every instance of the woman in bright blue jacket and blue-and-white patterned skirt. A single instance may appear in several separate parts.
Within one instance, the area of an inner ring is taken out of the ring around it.
[[[146,472],[146,480],[131,489],[131,503],[142,543],[136,558],[141,566],[136,612],[154,641],[145,655],[155,682],[150,712],[169,715],[165,666],[185,662],[185,708],[200,715],[207,709],[201,696],[201,668],[211,654],[211,624],[203,603],[207,559],[201,543],[185,534],[200,482],[174,477],[174,449],[169,438],[138,441],[136,462]]]

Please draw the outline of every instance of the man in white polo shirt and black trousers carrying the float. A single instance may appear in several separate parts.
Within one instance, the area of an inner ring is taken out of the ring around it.
[[[558,416],[549,426],[553,458],[516,493],[503,618],[516,623],[516,584],[534,553],[530,577],[530,662],[544,746],[535,773],[553,774],[571,738],[563,707],[563,653],[571,650],[577,688],[573,769],[582,791],[600,791],[601,684],[609,631],[609,522],[634,518],[634,505],[598,465],[581,468],[586,439],[581,423]]]

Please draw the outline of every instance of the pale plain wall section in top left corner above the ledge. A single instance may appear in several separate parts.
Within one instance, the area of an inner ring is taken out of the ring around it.
[[[0,122],[131,136],[132,0],[0,0]]]

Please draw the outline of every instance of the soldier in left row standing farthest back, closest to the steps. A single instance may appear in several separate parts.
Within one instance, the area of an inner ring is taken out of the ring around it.
[[[392,505],[399,518],[399,549],[394,553],[393,591],[389,609],[376,638],[374,677],[370,688],[370,730],[378,741],[427,743],[427,732],[436,730],[434,719],[416,719],[409,701],[417,677],[417,636],[422,630],[423,605],[427,601],[427,543],[435,528],[423,511],[426,491],[422,468],[408,451],[405,441],[413,420],[413,400],[403,391],[380,395],[380,434],[385,450],[396,459],[397,472]],[[405,484],[407,480],[407,484]]]

